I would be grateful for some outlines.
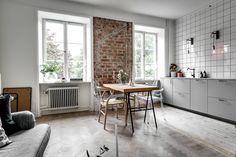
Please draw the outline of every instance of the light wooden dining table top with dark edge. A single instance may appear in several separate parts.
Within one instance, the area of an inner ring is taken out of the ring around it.
[[[103,86],[123,93],[147,92],[159,89],[159,87],[157,86],[150,86],[144,84],[134,84],[133,86],[130,86],[128,84],[103,84]]]

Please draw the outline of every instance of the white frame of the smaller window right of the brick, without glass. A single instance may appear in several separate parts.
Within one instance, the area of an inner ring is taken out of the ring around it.
[[[135,75],[135,70],[134,70],[134,79],[135,81],[153,81],[157,79],[157,75],[158,75],[158,34],[157,33],[152,33],[152,32],[146,32],[146,31],[140,31],[140,30],[135,30],[134,33],[141,33],[143,34],[143,43],[142,43],[142,49],[141,49],[141,78],[136,79],[136,75]],[[155,36],[155,40],[156,40],[156,46],[155,46],[155,74],[154,74],[154,78],[153,80],[148,80],[145,77],[145,34],[152,34]],[[135,38],[134,38],[135,40]],[[135,42],[135,41],[134,41]],[[135,46],[135,45],[134,45]],[[135,55],[136,55],[136,48],[134,47],[134,54],[133,54],[133,58],[135,60]],[[134,68],[136,67],[136,63],[133,63]]]

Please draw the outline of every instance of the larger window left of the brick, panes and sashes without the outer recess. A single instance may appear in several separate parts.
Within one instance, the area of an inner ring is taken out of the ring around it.
[[[44,19],[43,63],[57,63],[60,78],[83,78],[85,25]]]

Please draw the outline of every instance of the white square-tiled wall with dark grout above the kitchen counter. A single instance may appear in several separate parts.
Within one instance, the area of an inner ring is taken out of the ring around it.
[[[213,54],[211,32],[219,30]],[[186,39],[194,38],[188,54]],[[183,72],[196,68],[213,78],[236,78],[236,0],[217,0],[176,21],[176,63]],[[196,74],[198,75],[198,74]]]

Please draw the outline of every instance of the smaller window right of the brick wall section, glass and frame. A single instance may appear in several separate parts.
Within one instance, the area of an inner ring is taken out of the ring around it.
[[[134,73],[135,80],[157,78],[157,33],[135,31]]]

